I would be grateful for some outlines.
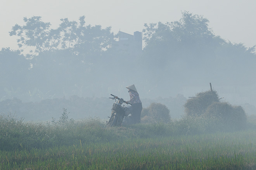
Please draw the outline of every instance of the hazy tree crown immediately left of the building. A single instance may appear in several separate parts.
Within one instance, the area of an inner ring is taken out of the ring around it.
[[[100,25],[85,26],[85,16],[79,18],[79,22],[61,19],[59,30],[62,35],[62,48],[72,48],[76,55],[99,55],[108,48],[114,38],[111,27],[102,29]]]

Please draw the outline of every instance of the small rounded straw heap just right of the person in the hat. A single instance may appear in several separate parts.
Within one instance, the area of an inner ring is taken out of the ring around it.
[[[171,121],[170,110],[160,103],[152,103],[149,107],[142,109],[141,117],[141,121],[145,123]]]

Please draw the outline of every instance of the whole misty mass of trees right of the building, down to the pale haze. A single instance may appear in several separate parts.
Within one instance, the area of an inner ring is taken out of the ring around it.
[[[158,91],[150,91],[154,95],[160,89],[164,93],[182,91],[187,82],[200,86],[209,78],[227,86],[252,80],[256,46],[247,48],[216,36],[202,15],[184,11],[180,20],[145,24],[143,37],[146,45],[140,67],[147,70],[144,82],[164,84]]]

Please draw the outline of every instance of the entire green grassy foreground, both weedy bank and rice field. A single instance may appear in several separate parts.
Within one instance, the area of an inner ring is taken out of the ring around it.
[[[40,124],[12,116],[0,123],[1,170],[256,169],[253,128],[205,133],[180,121],[106,128],[97,119]]]

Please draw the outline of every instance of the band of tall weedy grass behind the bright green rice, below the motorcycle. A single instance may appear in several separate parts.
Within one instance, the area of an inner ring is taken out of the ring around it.
[[[65,113],[65,112],[64,112]],[[24,122],[14,114],[0,115],[0,150],[48,148],[80,143],[97,143],[128,138],[159,138],[161,136],[215,133],[210,121],[202,117],[186,117],[165,123],[135,124],[121,128],[106,128],[100,119],[40,123]],[[255,127],[252,125],[251,128]]]

